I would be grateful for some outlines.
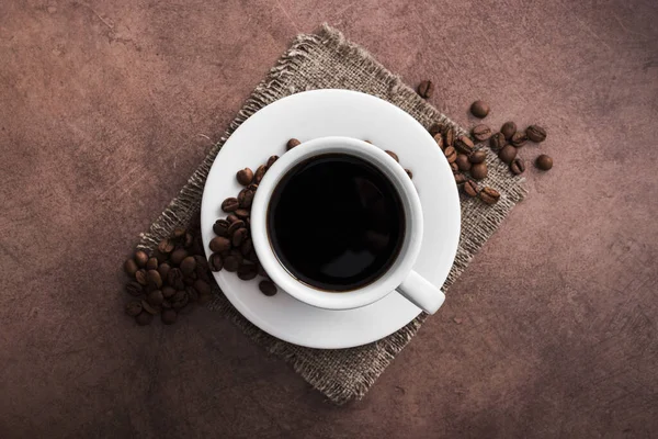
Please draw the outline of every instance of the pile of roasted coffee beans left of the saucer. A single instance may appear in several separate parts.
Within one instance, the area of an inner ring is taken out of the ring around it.
[[[213,281],[197,225],[175,228],[150,254],[135,251],[124,270],[131,279],[126,292],[134,297],[125,311],[138,325],[150,324],[156,315],[171,325],[183,308],[212,299]]]

